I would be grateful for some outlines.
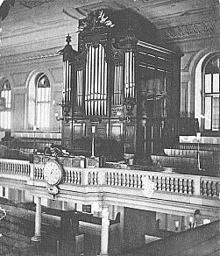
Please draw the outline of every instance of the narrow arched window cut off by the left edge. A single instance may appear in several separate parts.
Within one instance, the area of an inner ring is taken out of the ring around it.
[[[1,89],[0,127],[11,129],[11,85],[6,79]]]

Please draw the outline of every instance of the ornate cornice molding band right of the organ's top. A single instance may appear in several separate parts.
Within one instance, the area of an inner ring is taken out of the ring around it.
[[[208,20],[162,28],[160,29],[160,37],[162,40],[173,40],[216,34],[220,31],[218,23],[217,20]]]

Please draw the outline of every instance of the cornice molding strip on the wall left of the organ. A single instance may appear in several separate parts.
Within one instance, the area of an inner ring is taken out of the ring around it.
[[[19,62],[24,62],[28,60],[42,60],[42,59],[49,59],[56,56],[60,56],[59,50],[61,47],[53,47],[46,50],[40,50],[36,52],[29,52],[29,53],[19,53],[15,55],[9,56],[1,56],[0,57],[0,65],[7,65],[7,64],[16,64]]]

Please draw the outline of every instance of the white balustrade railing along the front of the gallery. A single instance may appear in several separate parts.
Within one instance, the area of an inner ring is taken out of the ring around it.
[[[156,191],[219,198],[220,181],[215,177],[102,167],[64,167],[64,172],[63,184],[142,189],[147,177],[153,181]],[[1,159],[0,174],[20,174],[29,176],[30,180],[44,181],[44,163]]]

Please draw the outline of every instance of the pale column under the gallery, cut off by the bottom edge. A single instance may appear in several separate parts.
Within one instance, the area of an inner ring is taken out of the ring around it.
[[[109,211],[107,206],[103,206],[102,210],[102,231],[101,231],[101,256],[108,256],[109,247]]]

